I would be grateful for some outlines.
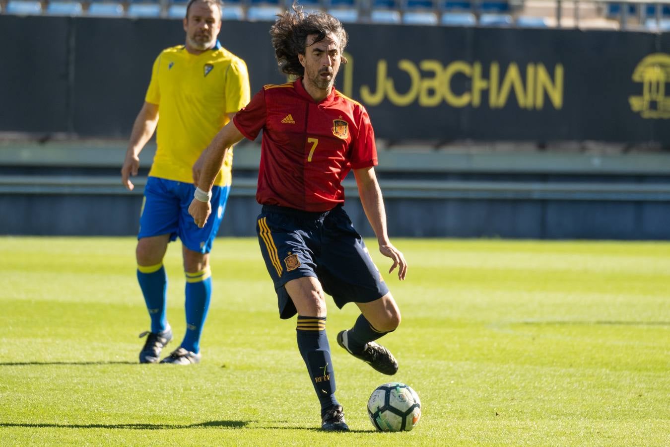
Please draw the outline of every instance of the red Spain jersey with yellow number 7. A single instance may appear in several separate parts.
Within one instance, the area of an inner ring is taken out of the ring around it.
[[[353,168],[377,165],[377,147],[365,108],[334,88],[316,103],[302,78],[266,85],[233,119],[256,139],[263,129],[256,200],[304,211],[344,202],[342,180]]]

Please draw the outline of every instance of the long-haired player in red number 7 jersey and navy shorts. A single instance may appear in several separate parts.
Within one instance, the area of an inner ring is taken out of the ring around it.
[[[342,308],[354,302],[360,316],[337,336],[348,353],[377,371],[398,369],[387,348],[374,340],[400,323],[400,311],[342,204],[342,180],[354,171],[360,201],[377,235],[379,250],[405,279],[407,263],[387,235],[386,215],[374,166],[375,135],[364,107],[335,90],[347,35],[326,13],[280,15],[271,28],[282,72],[294,82],[267,85],[235,115],[206,149],[189,212],[199,227],[210,212],[209,191],[226,147],[261,129],[256,198],[263,205],[257,234],[273,279],[280,318],[297,313],[297,345],[321,403],[322,430],[348,431],[335,398],[335,376],[326,337],[324,292]]]

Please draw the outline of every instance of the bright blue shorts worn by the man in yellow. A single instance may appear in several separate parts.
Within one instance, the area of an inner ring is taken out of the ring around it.
[[[202,228],[198,228],[188,214],[195,190],[190,183],[149,177],[144,188],[137,239],[169,234],[170,241],[179,237],[186,248],[209,253],[223,220],[230,186],[212,188],[212,215]]]

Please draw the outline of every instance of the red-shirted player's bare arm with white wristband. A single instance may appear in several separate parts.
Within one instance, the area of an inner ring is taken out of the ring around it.
[[[210,145],[204,150],[204,162],[198,180],[198,190],[200,190],[200,194],[204,193],[207,195],[210,193],[214,180],[216,180],[216,175],[223,166],[223,160],[226,157],[228,147],[234,145],[243,138],[244,135],[242,135],[242,133],[237,130],[237,127],[235,127],[235,124],[230,121],[230,123],[226,124],[224,128],[216,134],[216,137],[212,139]],[[196,190],[196,194],[198,194],[198,190]],[[212,213],[212,204],[210,204],[209,200],[202,200],[206,199],[206,197],[200,197],[200,199],[201,200],[194,198],[191,201],[191,204],[188,207],[188,214],[191,214],[196,225],[202,228],[207,222],[207,218]]]

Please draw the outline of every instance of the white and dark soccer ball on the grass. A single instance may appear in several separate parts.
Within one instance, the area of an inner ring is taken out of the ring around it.
[[[409,431],[421,418],[419,395],[404,383],[380,385],[368,400],[368,416],[382,432]]]

